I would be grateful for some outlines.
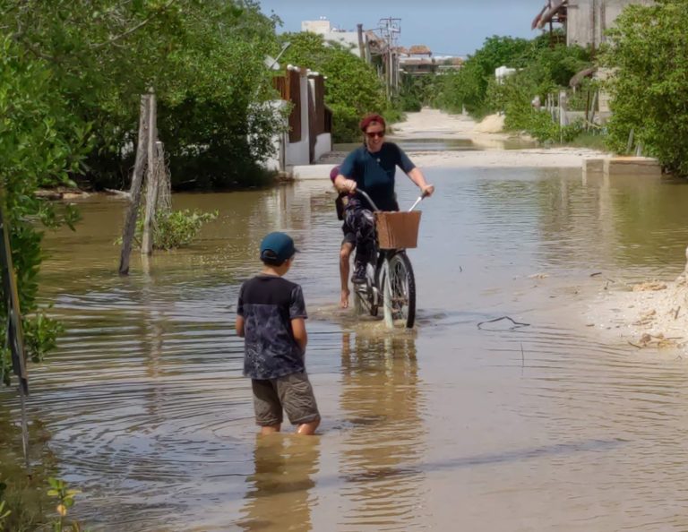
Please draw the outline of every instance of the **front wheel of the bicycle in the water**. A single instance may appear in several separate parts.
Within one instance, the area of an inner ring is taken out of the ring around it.
[[[387,261],[383,279],[384,320],[411,329],[416,322],[416,279],[409,256],[395,253]]]

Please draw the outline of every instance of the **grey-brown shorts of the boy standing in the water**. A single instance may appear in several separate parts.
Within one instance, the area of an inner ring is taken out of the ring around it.
[[[282,423],[282,409],[292,425],[320,419],[313,387],[307,373],[291,373],[277,379],[253,379],[255,423],[261,426]]]

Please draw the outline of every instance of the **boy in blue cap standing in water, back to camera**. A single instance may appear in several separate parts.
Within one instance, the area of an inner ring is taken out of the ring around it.
[[[304,295],[300,286],[282,279],[296,253],[285,233],[265,236],[262,272],[241,286],[236,305],[236,334],[245,339],[244,375],[251,378],[262,434],[280,432],[282,410],[299,434],[313,434],[320,425],[305,373]]]

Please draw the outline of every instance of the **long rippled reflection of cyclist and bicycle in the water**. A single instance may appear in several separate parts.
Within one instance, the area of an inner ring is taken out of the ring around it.
[[[352,345],[353,343],[353,345]],[[408,530],[423,522],[424,398],[413,336],[342,335],[342,530]]]

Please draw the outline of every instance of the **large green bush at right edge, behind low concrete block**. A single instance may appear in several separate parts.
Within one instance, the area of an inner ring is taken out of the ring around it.
[[[612,116],[609,145],[624,152],[630,133],[646,155],[688,176],[688,1],[629,5],[602,56]]]

